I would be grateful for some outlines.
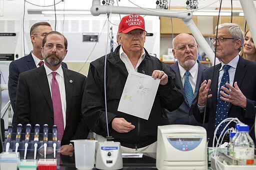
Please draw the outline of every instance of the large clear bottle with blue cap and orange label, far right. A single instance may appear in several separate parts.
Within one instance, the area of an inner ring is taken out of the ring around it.
[[[249,126],[240,125],[236,139],[233,140],[233,158],[238,165],[254,165],[254,143],[249,136]]]

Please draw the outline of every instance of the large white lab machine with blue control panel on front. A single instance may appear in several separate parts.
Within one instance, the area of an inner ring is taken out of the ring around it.
[[[200,126],[158,126],[158,170],[207,170],[206,130]]]

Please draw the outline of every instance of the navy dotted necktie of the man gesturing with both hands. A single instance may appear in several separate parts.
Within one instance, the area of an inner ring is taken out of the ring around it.
[[[223,65],[222,69],[224,70],[223,76],[221,78],[220,84],[219,84],[219,90],[218,90],[218,98],[217,98],[217,107],[216,107],[216,115],[215,115],[215,128],[218,126],[218,124],[227,118],[227,112],[228,112],[228,102],[225,102],[220,99],[221,94],[219,93],[220,91],[223,91],[221,89],[221,86],[224,86],[225,88],[229,89],[226,87],[225,83],[229,83],[229,74],[228,74],[228,69],[230,68],[230,65]],[[227,123],[222,123],[218,130],[217,134],[221,134],[223,131],[224,127],[226,126]]]

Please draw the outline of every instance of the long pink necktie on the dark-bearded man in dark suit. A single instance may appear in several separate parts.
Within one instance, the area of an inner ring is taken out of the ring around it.
[[[61,107],[61,99],[59,93],[58,82],[55,78],[56,72],[51,72],[51,100],[54,112],[54,125],[57,126],[57,140],[61,141],[63,133],[64,133],[64,125],[63,125],[63,114]]]

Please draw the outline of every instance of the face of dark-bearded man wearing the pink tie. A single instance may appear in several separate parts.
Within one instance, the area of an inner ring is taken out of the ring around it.
[[[46,42],[41,47],[42,57],[45,64],[57,66],[61,63],[66,55],[67,50],[64,46],[64,37],[58,34],[49,34],[46,37]]]

